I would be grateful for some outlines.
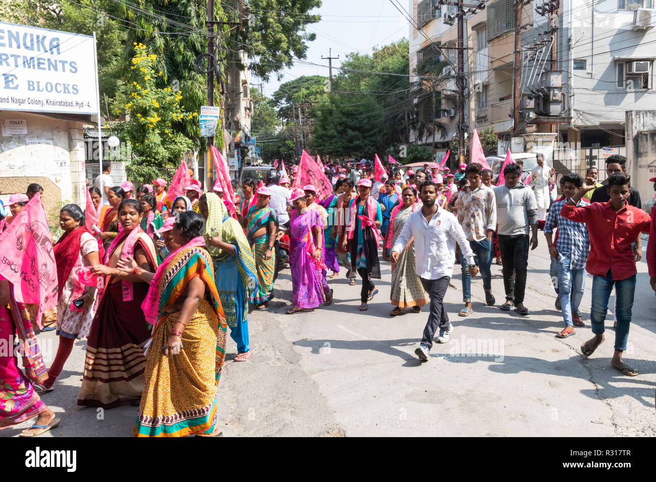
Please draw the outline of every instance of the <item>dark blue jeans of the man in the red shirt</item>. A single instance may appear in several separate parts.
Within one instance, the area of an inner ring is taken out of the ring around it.
[[[594,275],[592,278],[592,308],[590,309],[590,320],[592,321],[592,332],[602,334],[604,332],[604,320],[608,311],[608,298],[615,285],[615,350],[625,351],[626,340],[628,340],[628,328],[631,323],[631,308],[636,292],[636,275],[622,279],[613,280],[611,270],[606,276]]]

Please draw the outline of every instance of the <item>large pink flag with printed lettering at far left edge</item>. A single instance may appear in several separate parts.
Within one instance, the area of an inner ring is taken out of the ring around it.
[[[16,301],[38,305],[41,327],[41,314],[57,304],[57,268],[39,193],[0,234],[0,246],[0,275],[14,285]]]

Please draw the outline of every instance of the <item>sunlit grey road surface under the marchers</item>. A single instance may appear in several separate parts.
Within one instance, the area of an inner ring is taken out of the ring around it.
[[[380,292],[364,312],[358,311],[360,281],[350,287],[342,276],[329,280],[335,289],[333,306],[285,315],[291,279],[289,270],[283,271],[269,310],[249,317],[249,361],[232,362],[237,350],[228,338],[218,389],[222,430],[226,436],[656,435],[656,296],[645,262],[638,264],[625,355],[640,374],[629,378],[610,367],[612,311],[605,323],[606,342],[590,359],[581,355],[579,347],[591,336],[590,276],[581,304],[586,327],[565,340],[554,338],[563,321],[554,310],[542,233],[539,240],[529,256],[525,305],[532,314],[499,310],[504,300],[501,266],[493,265],[497,307],[485,306],[482,281],[476,277],[475,313],[457,316],[462,308],[457,265],[446,296],[455,331],[448,344],[434,345],[427,363],[420,363],[414,350],[428,308],[388,315],[388,263],[382,262]],[[39,338],[51,360],[56,336],[49,332]],[[43,396],[62,419],[43,436],[131,436],[136,407],[77,407],[84,350],[85,342],[77,341],[56,390]],[[28,425],[2,430],[0,437],[15,436]]]

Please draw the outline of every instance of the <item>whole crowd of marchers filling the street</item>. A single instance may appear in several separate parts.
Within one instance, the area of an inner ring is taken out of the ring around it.
[[[288,314],[330,306],[329,279],[342,269],[349,285],[361,280],[358,310],[367,310],[379,292],[379,255],[391,262],[390,315],[420,313],[429,305],[415,350],[427,361],[435,335],[446,343],[453,332],[443,300],[455,264],[462,273],[459,316],[474,313],[471,279],[479,273],[486,304],[497,304],[493,260],[502,265],[500,310],[531,314],[525,304],[528,258],[543,230],[564,321],[555,336],[573,336],[575,327],[584,326],[587,272],[594,337],[581,351],[592,355],[604,342],[615,287],[611,366],[637,374],[622,354],[642,256],[640,233],[650,230],[647,264],[656,290],[656,228],[651,209],[641,209],[630,186],[624,157],[606,159],[605,185],[596,182],[596,168],[585,178],[562,176],[558,199],[552,197],[554,171],[541,156],[529,173],[509,156],[497,176],[477,162],[460,164],[454,173],[438,164],[413,171],[389,163],[382,174],[361,163],[321,167],[330,194],[299,182],[304,178],[295,166],[289,176],[272,168],[262,180],[233,181],[234,190],[241,188],[234,199],[219,182],[203,191],[193,178],[184,195],[171,199],[167,180],[136,189],[132,182],[115,186],[110,164],[103,165],[85,211],[74,204],[60,210],[63,234],[52,247],[58,302],[56,314],[47,313],[56,316],[59,344],[50,367],[39,351],[41,323],[33,307],[18,302],[16,287],[0,277],[0,338],[24,347],[22,370],[12,350],[0,353],[0,428],[33,417],[36,423],[23,436],[57,426],[41,397],[56,390],[73,342],[86,338],[78,405],[138,406],[136,436],[220,435],[216,386],[226,335],[237,344],[235,361],[249,359],[249,309],[266,310],[274,298],[277,275],[287,268],[287,245],[293,284]],[[656,178],[651,181],[656,190]],[[0,205],[0,239],[42,193],[31,184],[25,194],[10,197],[9,212]],[[92,226],[90,214],[98,219]]]

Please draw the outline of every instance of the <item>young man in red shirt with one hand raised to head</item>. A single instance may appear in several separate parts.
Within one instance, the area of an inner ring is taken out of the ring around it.
[[[581,345],[581,352],[589,357],[604,342],[608,298],[615,285],[617,329],[611,367],[627,376],[636,376],[638,372],[622,361],[622,352],[626,350],[628,340],[638,272],[631,243],[641,232],[649,232],[651,218],[642,209],[626,202],[631,189],[630,177],[624,172],[608,178],[606,188],[610,201],[577,207],[581,197],[595,186],[593,178],[586,178],[581,189],[560,211],[560,214],[569,220],[586,223],[590,235],[590,254],[585,268],[592,275],[590,320],[595,336]]]

